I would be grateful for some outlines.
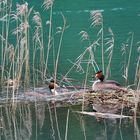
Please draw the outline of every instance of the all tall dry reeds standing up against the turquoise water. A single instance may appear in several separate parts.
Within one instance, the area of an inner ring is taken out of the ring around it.
[[[3,1],[2,1],[3,2]],[[5,6],[9,7],[7,10]],[[12,1],[11,3],[3,4],[3,14],[1,16],[1,26],[2,34],[1,38],[1,85],[9,83],[7,81],[13,81],[15,84],[13,87],[14,92],[19,86],[30,87],[30,83],[33,83],[33,86],[36,87],[39,83],[45,83],[46,79],[49,76],[49,55],[50,51],[53,50],[53,62],[54,62],[54,74],[53,77],[56,81],[58,78],[58,63],[60,57],[60,50],[62,47],[62,41],[65,30],[68,28],[66,23],[66,18],[61,13],[63,25],[57,27],[55,35],[59,35],[58,49],[57,54],[54,53],[54,33],[53,33],[53,0],[45,0],[42,7],[44,12],[47,12],[49,19],[46,22],[48,28],[47,36],[44,36],[45,27],[43,27],[43,22],[39,12],[34,11],[34,8],[29,8],[27,2],[23,4],[16,4],[16,10],[12,10]],[[31,19],[31,20],[30,20]],[[73,68],[76,68],[77,72],[86,73],[85,79],[90,75],[89,71],[93,69],[96,72],[99,69],[102,69],[106,73],[106,79],[109,76],[111,69],[111,62],[113,58],[113,49],[114,49],[114,34],[111,28],[108,29],[108,37],[104,35],[104,23],[102,11],[91,11],[91,29],[96,30],[97,35],[95,38],[90,37],[88,32],[81,31],[79,35],[81,36],[82,42],[88,42],[88,46],[83,53],[80,54],[75,62],[71,62],[73,66],[69,71],[63,76],[64,79],[67,78],[67,75],[71,72]],[[33,34],[30,32],[30,21],[32,21]],[[6,25],[4,23],[6,22]],[[14,24],[14,29],[9,28],[10,24]],[[6,31],[6,34],[4,34]],[[12,32],[12,33],[11,33]],[[10,41],[9,36],[15,39],[15,42]],[[131,36],[131,35],[130,35]],[[44,41],[44,38],[46,41]],[[130,43],[130,52],[128,54],[128,59],[124,64],[124,74],[126,85],[128,83],[128,74],[131,60],[131,52],[133,46],[133,34],[128,39],[127,44]],[[45,42],[45,43],[44,43]],[[47,45],[46,45],[47,43]],[[127,55],[124,51],[126,49],[125,44],[122,46],[122,54]],[[100,68],[98,62],[96,61],[96,51],[101,47],[101,56],[102,56],[102,68]],[[31,52],[31,50],[33,50]],[[105,55],[108,57],[105,58]],[[126,56],[124,56],[126,57]],[[108,64],[106,59],[108,60]],[[86,70],[83,67],[87,64]],[[86,72],[85,72],[86,71]],[[136,73],[139,71],[139,59],[137,63]],[[89,74],[88,74],[89,73]],[[137,74],[136,74],[137,75]],[[138,81],[137,76],[135,75],[135,83]],[[16,82],[14,82],[16,81]],[[85,80],[86,81],[86,80]],[[62,80],[60,80],[60,83]],[[87,82],[85,82],[87,83]],[[9,84],[8,84],[9,85]],[[86,85],[85,85],[86,87]],[[8,89],[8,88],[7,88]]]

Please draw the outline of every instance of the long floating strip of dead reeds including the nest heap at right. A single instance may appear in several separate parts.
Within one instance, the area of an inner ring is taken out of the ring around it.
[[[40,88],[38,89],[40,91]],[[55,104],[56,106],[79,105],[84,106],[85,111],[93,111],[100,113],[123,114],[140,116],[140,90],[128,90],[128,92],[92,92],[88,90],[70,91],[60,93],[59,95],[50,95],[42,92],[27,91],[24,94],[16,94],[16,102],[34,102],[45,101]],[[12,97],[12,96],[11,96]],[[5,98],[6,99],[6,98]],[[7,99],[6,99],[7,100]],[[12,98],[8,101],[13,102]],[[3,103],[5,101],[3,100]],[[2,103],[2,101],[1,101]]]

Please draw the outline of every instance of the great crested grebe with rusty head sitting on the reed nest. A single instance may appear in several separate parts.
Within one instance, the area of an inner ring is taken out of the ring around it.
[[[95,74],[95,77],[98,78],[98,80],[96,80],[92,85],[93,91],[115,90],[126,92],[126,90],[122,88],[118,82],[114,80],[104,80],[102,71],[98,71]]]

